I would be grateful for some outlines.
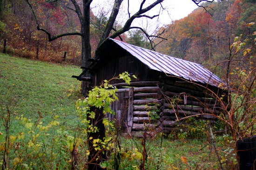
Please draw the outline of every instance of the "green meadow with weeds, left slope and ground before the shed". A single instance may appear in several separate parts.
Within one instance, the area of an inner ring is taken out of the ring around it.
[[[80,73],[77,66],[0,54],[2,170],[87,168],[87,135],[75,106],[83,98],[81,82],[71,78]],[[207,123],[198,125],[190,129],[195,139],[184,132],[179,139],[162,134],[140,139],[108,131],[112,140],[101,167],[113,170],[118,164],[120,170],[140,170],[144,161],[147,170],[233,169],[235,144],[229,135],[214,133],[212,140]]]

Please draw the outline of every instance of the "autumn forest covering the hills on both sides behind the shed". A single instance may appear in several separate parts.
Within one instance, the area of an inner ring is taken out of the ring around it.
[[[41,26],[51,34],[80,31],[77,16],[58,4],[71,2],[43,2],[44,0],[35,1],[36,14]],[[250,36],[256,29],[255,25],[247,26],[256,20],[256,0],[222,0],[201,5],[207,7],[199,7],[187,17],[160,28],[158,32],[166,30],[162,37],[167,40],[155,39],[155,50],[200,63],[218,76],[224,76],[223,65],[219,63],[228,59],[229,46],[234,38],[242,33],[244,37]],[[103,9],[101,13],[91,13],[92,53],[97,47],[107,20],[108,14]],[[116,28],[119,26],[121,25],[115,23]],[[48,42],[46,33],[36,29],[33,13],[25,0],[0,0],[0,37],[1,48],[4,39],[7,39],[9,54],[61,63],[64,62],[64,51],[67,51],[65,63],[81,65],[80,36],[65,36]],[[149,48],[149,43],[140,30],[129,31],[121,38],[129,44]],[[217,65],[219,67],[216,68]]]

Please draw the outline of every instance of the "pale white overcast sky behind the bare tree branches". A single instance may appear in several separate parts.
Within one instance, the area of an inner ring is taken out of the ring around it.
[[[142,0],[129,0],[129,13],[133,15],[136,13],[141,4]],[[91,8],[93,13],[97,16],[99,11],[103,11],[104,13],[108,13],[108,16],[111,13],[112,6],[114,4],[114,0],[93,0],[91,4]],[[147,7],[149,4],[152,4],[155,0],[146,0],[143,8]],[[155,34],[159,28],[164,25],[171,24],[172,21],[182,19],[188,16],[195,8],[198,6],[192,0],[164,0],[162,2],[162,6],[165,8],[160,13],[159,18],[147,19],[145,17],[135,19],[131,26],[138,26],[143,28],[149,35]],[[154,16],[159,14],[161,9],[161,5],[155,6],[151,9],[147,15]],[[124,25],[128,19],[128,0],[123,0],[122,6],[120,9],[120,13],[117,16],[117,22],[119,25]]]

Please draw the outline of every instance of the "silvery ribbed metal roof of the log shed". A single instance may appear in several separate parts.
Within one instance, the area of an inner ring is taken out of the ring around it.
[[[128,51],[142,63],[146,64],[150,69],[161,71],[168,75],[182,77],[189,81],[201,82],[216,87],[218,87],[221,83],[224,85],[226,84],[219,77],[214,75],[208,69],[202,67],[200,64],[163,55],[158,52],[123,43],[115,39],[108,39],[112,40],[121,48]]]

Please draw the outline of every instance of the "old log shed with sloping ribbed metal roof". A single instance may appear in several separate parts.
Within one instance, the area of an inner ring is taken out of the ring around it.
[[[189,116],[214,120],[226,101],[220,78],[197,63],[166,56],[152,50],[108,39],[96,51],[92,61],[92,85],[100,85],[127,71],[130,85],[121,80],[111,82],[118,88],[118,101],[112,103],[115,118],[126,132],[145,128],[170,133]]]

